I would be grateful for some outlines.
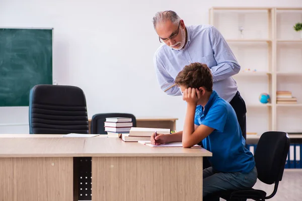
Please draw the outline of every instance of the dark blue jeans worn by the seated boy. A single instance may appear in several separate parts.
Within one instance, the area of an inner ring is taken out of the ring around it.
[[[203,170],[203,197],[220,190],[238,190],[251,188],[257,181],[257,169],[250,173],[215,172],[212,167]],[[219,197],[211,200],[219,200]],[[206,201],[206,200],[204,200]]]

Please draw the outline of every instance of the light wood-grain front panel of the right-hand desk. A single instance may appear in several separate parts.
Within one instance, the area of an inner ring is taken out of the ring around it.
[[[202,200],[202,157],[93,157],[92,200]]]

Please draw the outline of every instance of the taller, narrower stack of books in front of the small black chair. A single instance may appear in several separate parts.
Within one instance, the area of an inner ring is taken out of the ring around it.
[[[114,117],[106,118],[104,122],[107,137],[121,137],[122,134],[129,134],[132,128],[132,118]]]

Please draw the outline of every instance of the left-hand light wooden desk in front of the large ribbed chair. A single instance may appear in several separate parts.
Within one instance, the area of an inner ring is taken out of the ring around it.
[[[0,135],[2,136],[2,135]],[[0,200],[73,200],[73,156],[85,139],[0,138]]]

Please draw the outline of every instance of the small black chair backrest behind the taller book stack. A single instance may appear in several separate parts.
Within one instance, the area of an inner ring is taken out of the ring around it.
[[[106,118],[113,118],[113,117],[125,117],[132,119],[132,127],[136,127],[136,118],[132,114],[128,113],[102,113],[96,114],[91,119],[91,133],[93,134],[107,134],[104,127],[104,122]]]

